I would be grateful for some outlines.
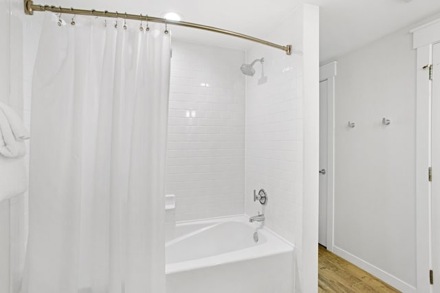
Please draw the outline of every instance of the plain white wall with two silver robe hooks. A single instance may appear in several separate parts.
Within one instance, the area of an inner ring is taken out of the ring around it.
[[[415,58],[405,29],[338,58],[336,77],[334,251],[404,292],[416,285]]]

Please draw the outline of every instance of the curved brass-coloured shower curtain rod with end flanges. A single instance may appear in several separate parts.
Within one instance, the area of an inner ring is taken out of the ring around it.
[[[287,55],[292,54],[292,45],[277,45],[274,43],[267,42],[267,40],[261,40],[260,38],[254,38],[253,36],[248,36],[245,34],[240,34],[238,32],[232,32],[229,30],[219,29],[217,27],[210,27],[208,25],[199,25],[197,23],[187,23],[186,21],[170,21],[167,19],[162,19],[159,17],[152,16],[143,16],[142,14],[121,14],[118,12],[108,12],[106,11],[98,11],[98,10],[82,10],[82,9],[74,9],[74,8],[62,8],[50,5],[37,5],[34,4],[32,0],[23,0],[25,14],[32,15],[34,11],[50,11],[57,12],[62,14],[77,14],[77,15],[86,15],[86,16],[102,16],[102,17],[111,17],[113,19],[121,18],[121,19],[133,19],[135,21],[150,21],[153,23],[165,23],[166,25],[179,25],[181,27],[192,27],[199,30],[206,30],[209,32],[217,32],[219,34],[227,34],[228,36],[235,36],[237,38],[244,38],[245,40],[251,40],[252,42],[260,43],[263,45],[267,45],[270,47],[274,47],[276,49],[281,49],[286,52]]]

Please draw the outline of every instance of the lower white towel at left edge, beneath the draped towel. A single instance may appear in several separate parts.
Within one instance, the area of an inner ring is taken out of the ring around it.
[[[28,190],[28,174],[24,158],[0,156],[0,202]]]

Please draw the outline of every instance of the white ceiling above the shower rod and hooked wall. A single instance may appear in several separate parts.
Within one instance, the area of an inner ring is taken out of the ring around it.
[[[178,12],[184,21],[202,23],[270,40],[270,31],[298,5],[320,6],[320,61],[334,60],[402,27],[440,12],[439,0],[34,0],[37,4],[94,8],[161,16]],[[206,45],[248,49],[248,41],[184,27],[173,38]],[[268,36],[268,37],[267,37]]]

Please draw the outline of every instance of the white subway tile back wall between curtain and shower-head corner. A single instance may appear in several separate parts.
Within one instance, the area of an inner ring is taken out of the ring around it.
[[[244,211],[243,51],[173,41],[166,194],[175,220]]]

